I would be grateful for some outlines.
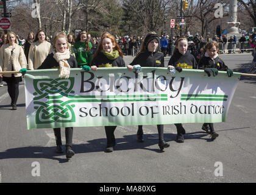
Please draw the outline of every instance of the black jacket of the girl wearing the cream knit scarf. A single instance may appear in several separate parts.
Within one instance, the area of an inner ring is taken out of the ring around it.
[[[68,59],[68,64],[70,68],[78,68],[76,59],[74,56],[70,55]],[[51,69],[51,68],[60,68],[59,63],[54,59],[54,54],[48,54],[44,62],[39,66],[38,69]]]

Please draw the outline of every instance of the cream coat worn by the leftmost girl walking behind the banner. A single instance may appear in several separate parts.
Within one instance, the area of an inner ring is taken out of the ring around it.
[[[15,43],[15,48],[12,50],[9,44],[3,44],[0,49],[0,71],[20,71],[22,68],[27,68],[27,60],[23,48]],[[12,77],[11,73],[2,74],[4,77]],[[15,73],[15,77],[20,77],[21,73]]]

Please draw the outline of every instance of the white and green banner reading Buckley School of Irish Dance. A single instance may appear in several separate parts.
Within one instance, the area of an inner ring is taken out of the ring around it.
[[[27,71],[27,129],[224,122],[240,73],[167,68]]]

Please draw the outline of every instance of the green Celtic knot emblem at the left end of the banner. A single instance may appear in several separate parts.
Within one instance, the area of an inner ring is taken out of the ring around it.
[[[37,124],[51,124],[54,122],[75,122],[76,117],[73,111],[75,105],[62,101],[63,95],[74,93],[74,77],[69,79],[35,79],[34,80],[34,105],[37,113],[35,122]],[[60,94],[60,95],[58,95]],[[48,101],[41,102],[46,98]]]

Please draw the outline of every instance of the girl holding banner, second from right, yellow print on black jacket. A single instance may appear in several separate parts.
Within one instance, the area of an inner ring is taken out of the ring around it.
[[[175,43],[175,49],[171,59],[168,62],[168,66],[176,67],[178,72],[182,71],[182,68],[197,69],[196,59],[188,51],[188,40],[185,37],[180,37]],[[182,124],[174,124],[177,128],[177,139],[178,143],[184,142],[185,129]]]

